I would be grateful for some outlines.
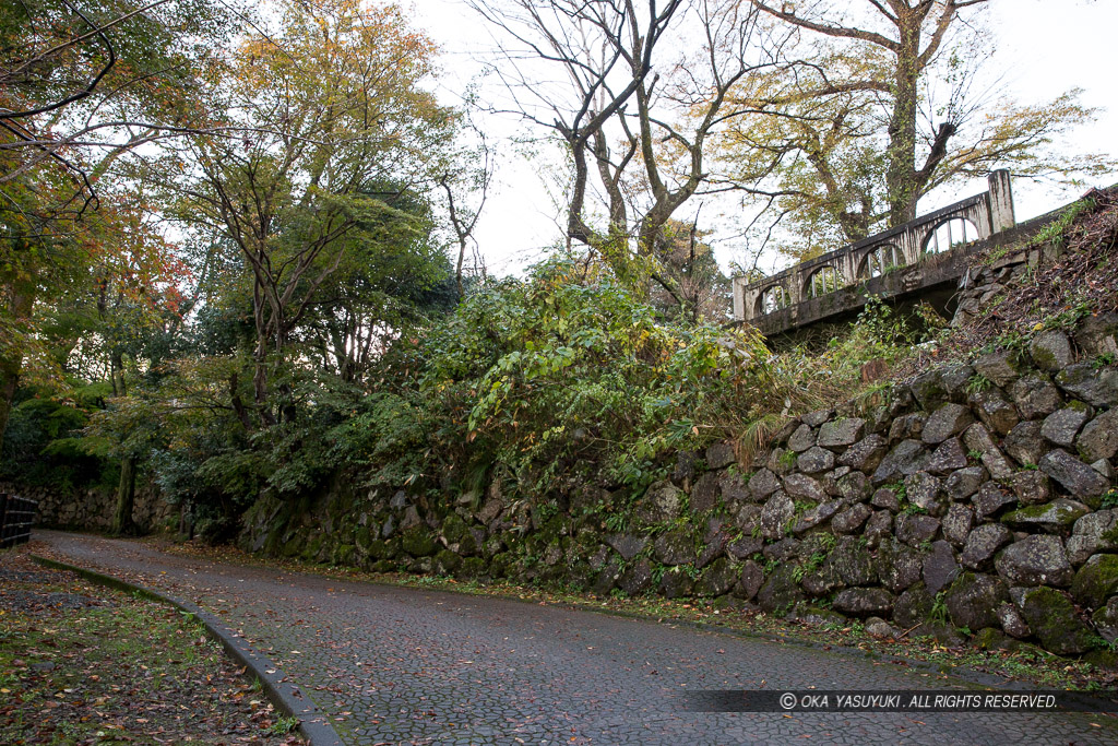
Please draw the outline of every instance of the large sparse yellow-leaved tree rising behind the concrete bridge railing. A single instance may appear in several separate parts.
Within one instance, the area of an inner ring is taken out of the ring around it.
[[[1052,148],[1093,115],[1078,89],[1027,104],[996,93],[987,0],[750,2],[797,43],[731,92],[743,115],[720,143],[726,178],[787,216],[796,256],[907,223],[932,190],[998,168],[1073,183],[1115,168]]]

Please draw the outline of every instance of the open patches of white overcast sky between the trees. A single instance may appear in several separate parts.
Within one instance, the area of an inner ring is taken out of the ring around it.
[[[476,58],[492,45],[489,30],[462,0],[413,0],[413,7],[417,25],[443,47],[447,75],[439,84],[439,96],[444,103],[455,104],[464,82],[481,69]],[[1118,154],[1118,83],[1114,74],[1118,0],[994,0],[988,25],[996,47],[989,64],[1004,72],[1010,94],[1021,103],[1038,103],[1071,87],[1083,88],[1082,103],[1103,111],[1096,123],[1072,133],[1068,145],[1082,152]],[[485,126],[501,141],[501,152],[498,183],[479,221],[476,238],[491,272],[519,273],[542,258],[546,247],[560,238],[560,210],[540,177],[540,163],[519,155],[508,140],[518,123],[490,117]],[[1118,174],[1096,186],[1115,181]],[[979,181],[958,193],[926,200],[920,208],[928,211],[984,189]],[[1046,213],[1077,196],[1017,180],[1017,219]],[[700,228],[716,227],[700,220]],[[743,247],[732,240],[714,245],[723,270],[732,259],[745,259]],[[780,264],[774,256],[761,267],[768,271]]]

